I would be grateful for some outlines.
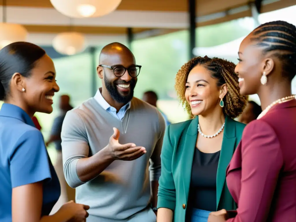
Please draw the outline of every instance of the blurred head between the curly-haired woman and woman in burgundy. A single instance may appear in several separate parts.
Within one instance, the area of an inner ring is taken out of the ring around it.
[[[248,101],[246,108],[244,108],[244,112],[239,116],[239,122],[248,124],[251,121],[257,119],[257,117],[262,112],[261,106],[259,106],[254,101]]]

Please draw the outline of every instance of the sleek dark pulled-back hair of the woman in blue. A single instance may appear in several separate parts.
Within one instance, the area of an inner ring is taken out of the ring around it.
[[[36,62],[46,52],[28,42],[14,42],[0,50],[0,100],[9,94],[9,83],[14,73],[30,77]]]

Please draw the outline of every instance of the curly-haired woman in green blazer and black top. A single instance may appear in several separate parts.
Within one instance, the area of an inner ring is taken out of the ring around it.
[[[226,167],[245,124],[239,116],[235,65],[196,57],[176,75],[176,91],[191,120],[168,126],[161,152],[158,222],[204,222],[211,211],[236,209],[225,181]]]

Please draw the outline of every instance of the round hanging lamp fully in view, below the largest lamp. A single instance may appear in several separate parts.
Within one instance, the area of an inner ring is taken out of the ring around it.
[[[85,49],[85,38],[81,33],[59,33],[52,41],[52,46],[60,54],[74,55]]]

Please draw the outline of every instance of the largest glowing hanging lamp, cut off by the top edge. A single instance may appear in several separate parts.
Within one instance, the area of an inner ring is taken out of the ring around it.
[[[113,12],[121,0],[50,0],[53,7],[72,18],[100,17]]]

